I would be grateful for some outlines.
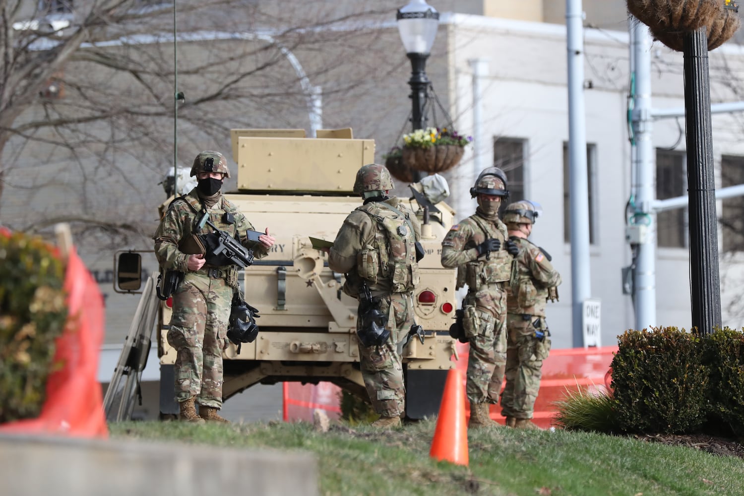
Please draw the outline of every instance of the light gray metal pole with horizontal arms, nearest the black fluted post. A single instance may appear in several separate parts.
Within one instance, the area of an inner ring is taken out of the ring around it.
[[[651,117],[651,36],[641,22],[630,23],[630,50],[635,61],[635,104],[632,110],[635,155],[632,167],[637,184],[635,213],[631,222],[646,225],[643,242],[635,245],[635,270],[633,293],[635,303],[635,329],[656,325],[656,215],[652,210],[655,201],[655,152],[652,141]]]

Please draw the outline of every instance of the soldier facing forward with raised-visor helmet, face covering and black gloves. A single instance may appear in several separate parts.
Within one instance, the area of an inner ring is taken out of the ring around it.
[[[478,199],[475,214],[453,225],[442,241],[442,265],[465,274],[468,292],[462,305],[462,328],[470,344],[466,393],[470,428],[495,426],[489,405],[498,405],[507,355],[506,286],[518,248],[498,219],[506,199],[504,171],[488,167],[470,189]],[[462,281],[458,275],[458,281]],[[458,283],[458,289],[462,286]]]

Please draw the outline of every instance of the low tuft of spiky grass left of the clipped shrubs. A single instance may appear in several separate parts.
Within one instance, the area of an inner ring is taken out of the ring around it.
[[[554,403],[557,425],[568,431],[594,431],[610,434],[620,431],[615,399],[606,391],[570,390]]]

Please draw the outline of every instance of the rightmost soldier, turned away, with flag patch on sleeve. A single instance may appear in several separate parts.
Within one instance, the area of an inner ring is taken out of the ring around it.
[[[557,299],[561,283],[548,252],[527,240],[539,213],[539,205],[527,200],[508,205],[504,212],[519,254],[507,290],[507,385],[501,395],[501,414],[515,428],[538,428],[530,419],[540,389],[542,361],[551,350],[545,303],[549,297]]]

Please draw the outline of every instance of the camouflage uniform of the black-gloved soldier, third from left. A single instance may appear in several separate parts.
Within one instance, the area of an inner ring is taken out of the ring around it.
[[[501,249],[478,256],[476,246],[498,239]],[[470,343],[466,392],[469,402],[498,404],[504,380],[507,338],[506,285],[513,257],[504,250],[507,227],[476,212],[453,225],[442,242],[442,265],[466,273],[463,327]]]

